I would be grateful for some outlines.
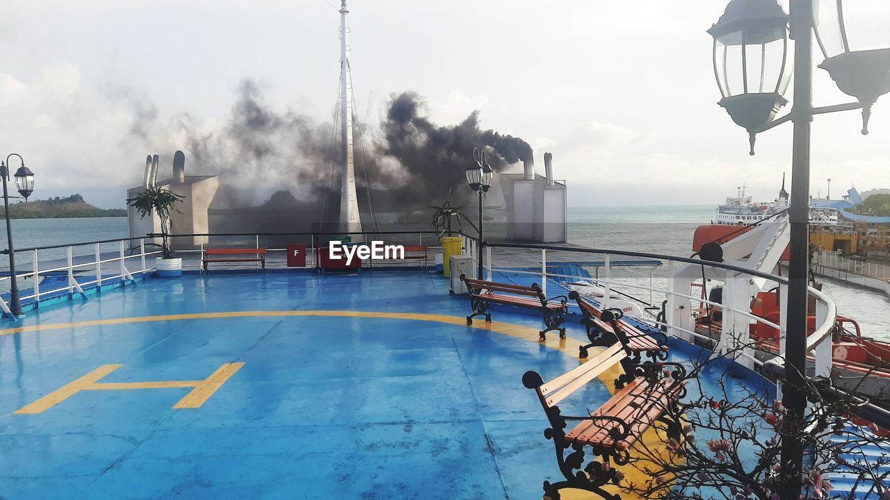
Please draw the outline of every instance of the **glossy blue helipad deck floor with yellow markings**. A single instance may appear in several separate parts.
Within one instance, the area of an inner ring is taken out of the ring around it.
[[[583,329],[542,344],[539,315],[468,309],[441,275],[376,270],[150,278],[29,312],[0,330],[0,497],[540,498],[561,476],[522,374],[576,367]]]

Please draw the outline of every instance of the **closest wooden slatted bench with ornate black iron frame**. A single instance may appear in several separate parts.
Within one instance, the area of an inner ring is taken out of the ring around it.
[[[618,495],[611,495],[603,487],[610,482],[619,482],[612,465],[625,465],[630,461],[630,448],[643,432],[659,422],[669,438],[680,439],[682,423],[678,401],[684,398],[686,391],[684,367],[676,363],[647,361],[627,369],[627,356],[625,346],[614,343],[550,382],[545,383],[541,375],[533,371],[522,375],[522,384],[536,391],[544,408],[550,423],[544,436],[554,441],[556,461],[565,477],[555,483],[544,481],[545,496],[550,500],[559,500],[563,488],[584,489],[606,500],[620,500]],[[562,415],[557,405],[563,399],[619,363],[625,367],[625,375],[616,379],[616,392],[602,407],[589,415]],[[670,376],[665,376],[668,365],[675,369]],[[570,422],[577,424],[566,431]],[[594,459],[585,464],[587,447]]]

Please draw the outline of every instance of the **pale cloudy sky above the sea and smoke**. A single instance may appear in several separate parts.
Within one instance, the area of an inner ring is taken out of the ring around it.
[[[270,107],[330,121],[339,14],[328,1],[338,0],[7,0],[0,153],[25,158],[35,198],[80,193],[122,207],[146,154],[161,156],[163,176],[187,134],[224,127],[245,78]],[[356,110],[372,132],[406,90],[440,125],[479,110],[483,127],[531,144],[539,171],[554,154],[570,206],[716,204],[742,183],[772,200],[790,174],[791,127],[761,134],[749,157],[747,133],[717,106],[706,30],[724,6],[350,0]],[[853,101],[814,75],[815,105]],[[832,198],[890,186],[890,96],[870,135],[861,128],[855,111],[816,118],[813,195],[826,195],[829,178]],[[187,158],[188,174],[213,165],[197,170]],[[223,182],[256,199],[281,185],[256,165]]]

